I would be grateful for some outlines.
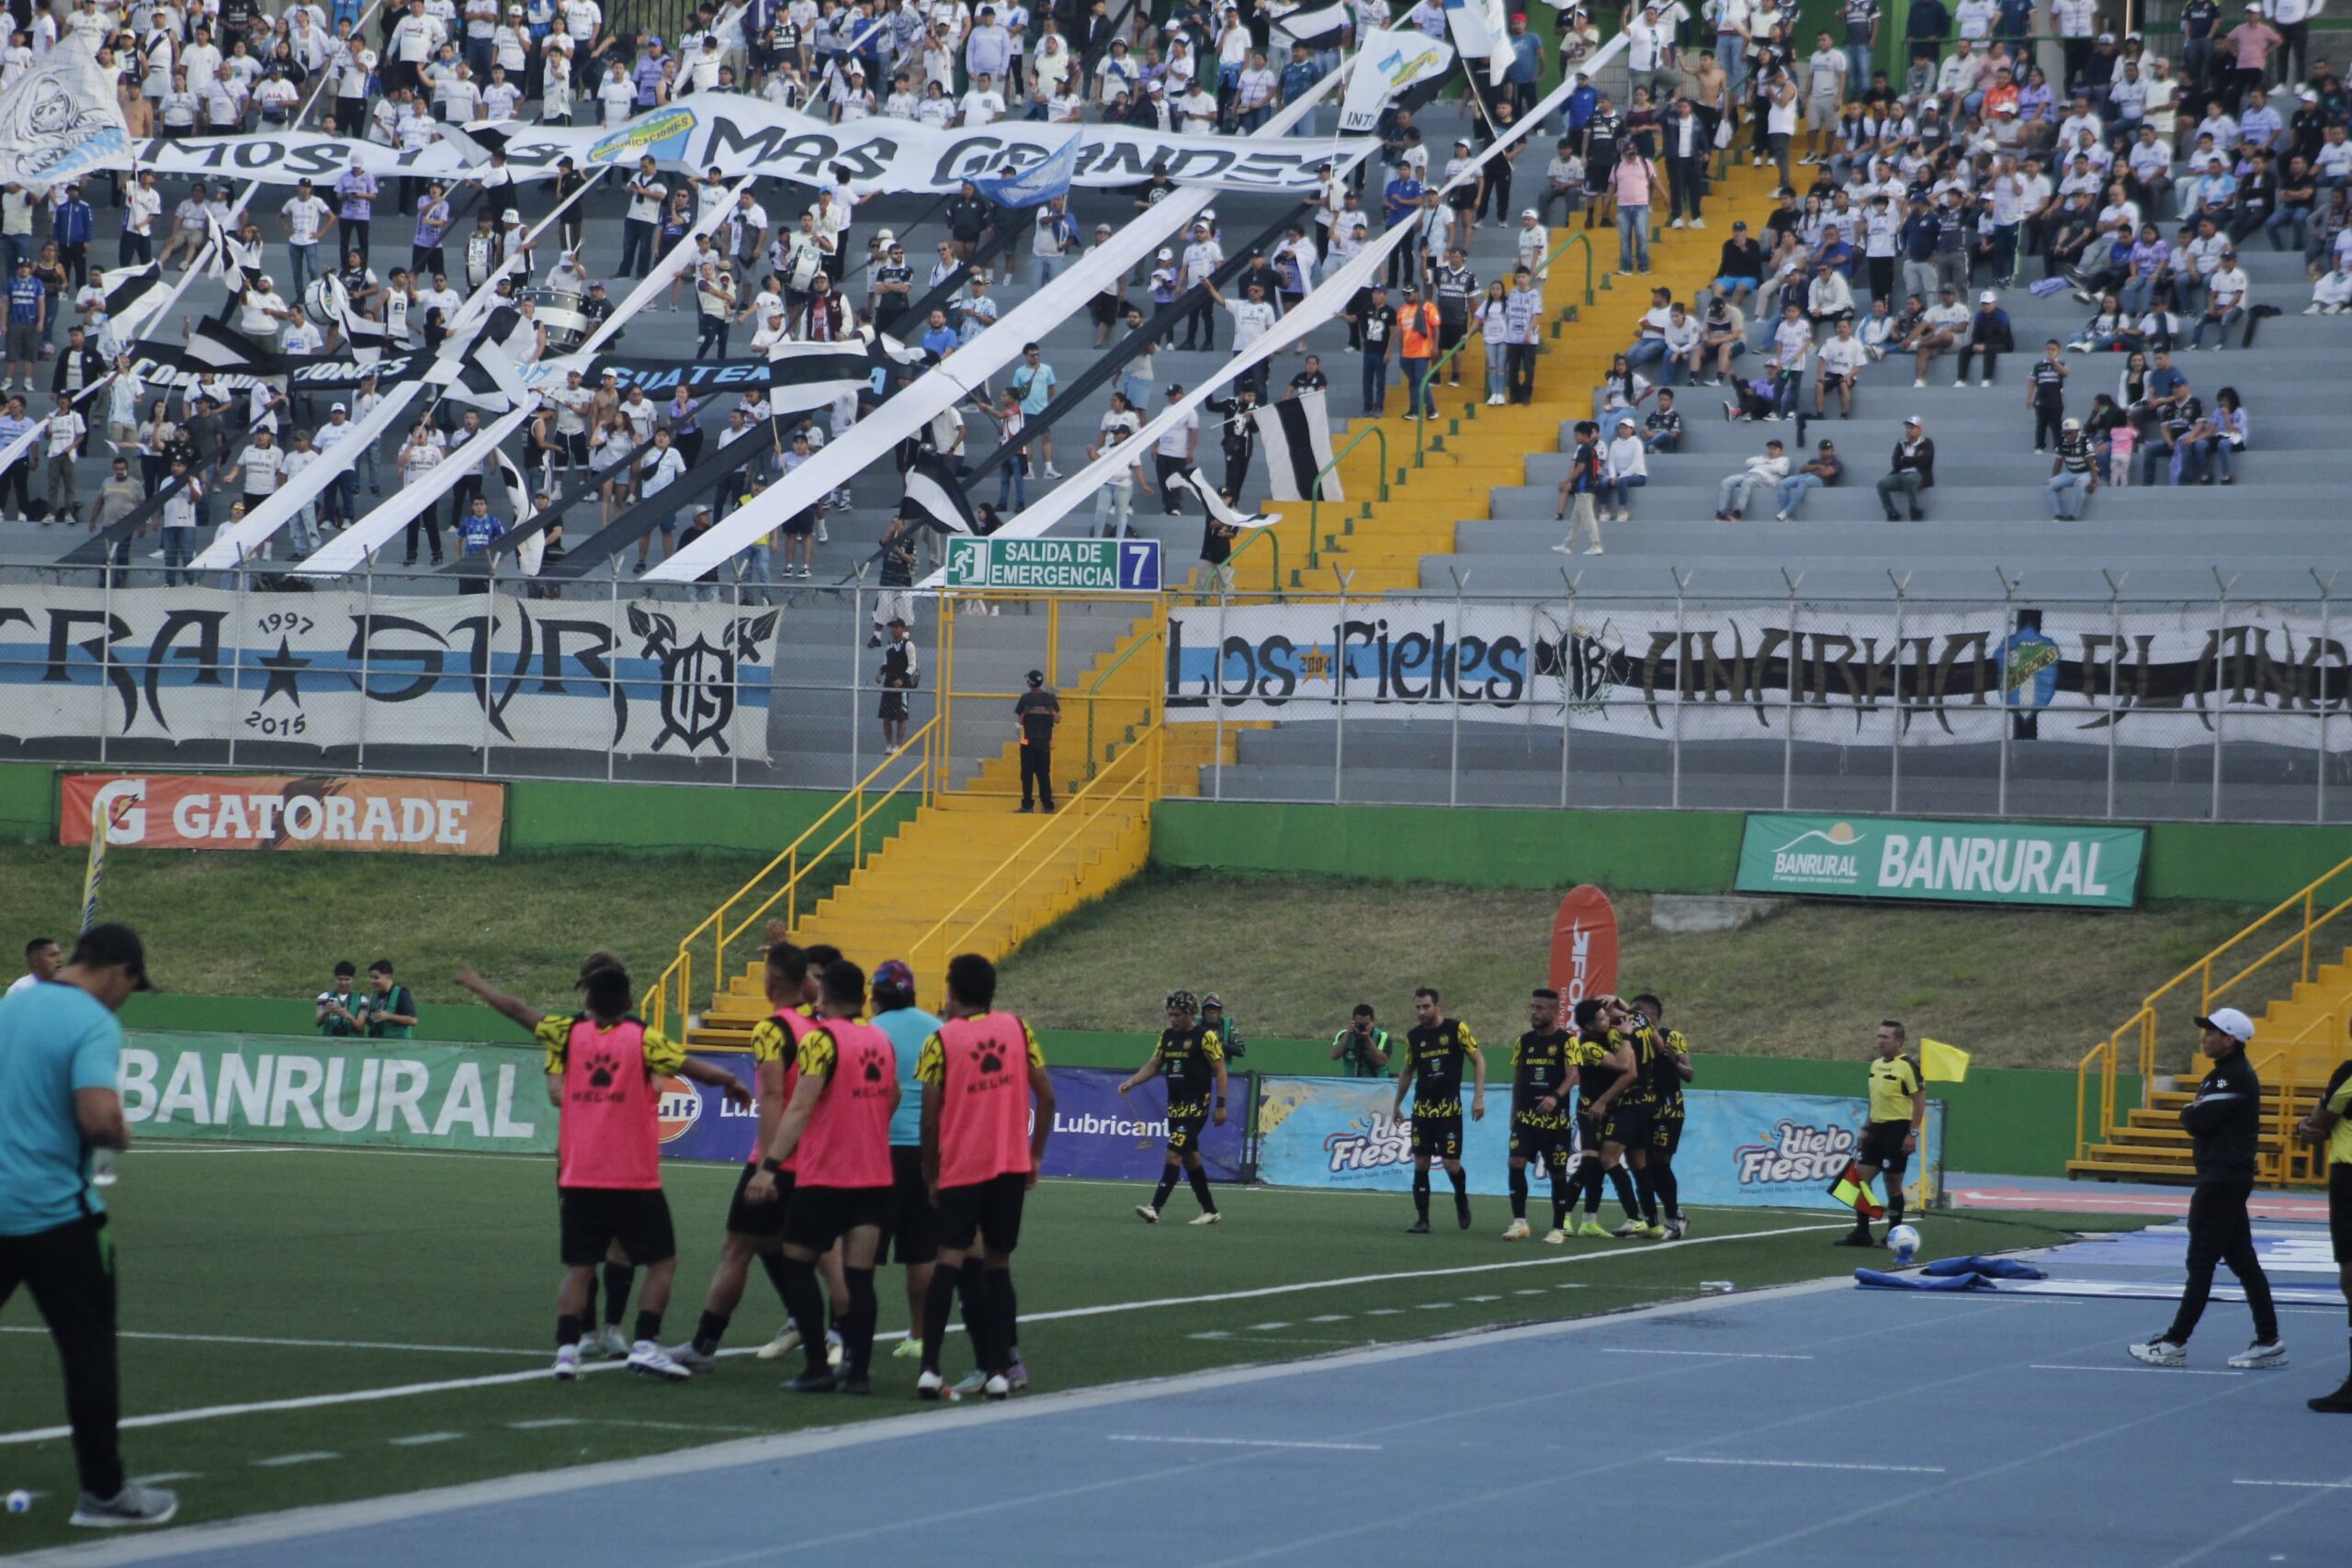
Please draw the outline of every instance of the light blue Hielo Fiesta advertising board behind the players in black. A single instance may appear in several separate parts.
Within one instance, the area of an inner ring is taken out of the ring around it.
[[[1395,1095],[1392,1081],[1268,1077],[1258,1100],[1258,1180],[1275,1187],[1411,1190],[1414,1121],[1392,1114]],[[1686,1117],[1675,1175],[1686,1204],[1837,1211],[1828,1187],[1856,1150],[1867,1100],[1693,1088],[1682,1103]],[[1940,1182],[1940,1100],[1929,1100],[1922,1143],[1919,1164],[1931,1182]],[[1508,1084],[1489,1091],[1484,1121],[1463,1119],[1463,1171],[1477,1194],[1510,1192]],[[1543,1182],[1536,1187],[1541,1192]]]

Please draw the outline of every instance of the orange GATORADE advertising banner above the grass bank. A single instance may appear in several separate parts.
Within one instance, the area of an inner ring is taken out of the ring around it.
[[[494,856],[506,827],[506,785],[461,778],[66,773],[56,842],[87,844],[99,804],[106,842],[141,849]]]

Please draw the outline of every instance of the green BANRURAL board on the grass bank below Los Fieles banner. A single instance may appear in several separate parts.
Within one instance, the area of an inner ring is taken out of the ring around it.
[[[1750,816],[1733,886],[1811,898],[2129,910],[2140,896],[2145,846],[2145,827]]]

